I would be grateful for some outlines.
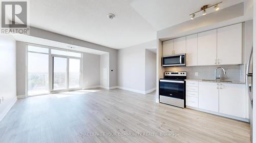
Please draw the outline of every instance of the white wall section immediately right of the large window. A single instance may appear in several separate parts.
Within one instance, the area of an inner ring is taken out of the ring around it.
[[[100,55],[83,53],[83,88],[100,85]]]

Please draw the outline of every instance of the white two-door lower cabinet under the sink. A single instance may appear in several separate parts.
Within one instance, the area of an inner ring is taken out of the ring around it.
[[[248,119],[249,106],[245,90],[245,84],[199,81],[198,108],[234,119]],[[186,97],[194,101],[192,97]]]

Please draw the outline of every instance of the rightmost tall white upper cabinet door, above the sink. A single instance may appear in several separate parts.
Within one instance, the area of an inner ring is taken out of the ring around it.
[[[219,65],[242,64],[242,23],[217,29]]]

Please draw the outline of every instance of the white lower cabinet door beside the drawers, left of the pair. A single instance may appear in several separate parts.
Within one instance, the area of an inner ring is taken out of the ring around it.
[[[199,82],[198,107],[219,112],[219,83]]]

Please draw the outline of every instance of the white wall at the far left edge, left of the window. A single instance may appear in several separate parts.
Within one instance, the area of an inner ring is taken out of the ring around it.
[[[16,43],[11,36],[0,36],[0,121],[16,102]],[[3,101],[4,98],[4,101]]]

